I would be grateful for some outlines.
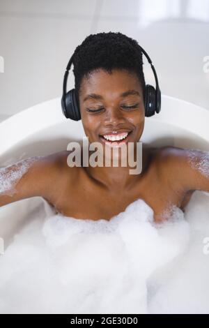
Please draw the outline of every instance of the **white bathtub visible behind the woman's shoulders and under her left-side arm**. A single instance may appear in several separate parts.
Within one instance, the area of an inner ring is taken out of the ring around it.
[[[142,141],[157,147],[172,145],[209,149],[209,111],[183,100],[162,96],[162,111],[146,118]],[[65,119],[60,98],[40,103],[0,124],[0,167],[29,156],[66,149],[70,140],[82,140],[82,121]],[[40,197],[21,200],[0,209],[0,237],[7,246],[37,206]]]

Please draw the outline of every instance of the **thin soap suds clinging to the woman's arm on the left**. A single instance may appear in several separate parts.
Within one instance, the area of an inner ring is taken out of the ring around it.
[[[13,196],[16,192],[15,186],[17,182],[39,157],[40,156],[33,156],[12,165],[0,167],[0,195]]]

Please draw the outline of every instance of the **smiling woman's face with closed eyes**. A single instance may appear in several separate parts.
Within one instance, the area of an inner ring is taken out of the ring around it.
[[[105,144],[103,136],[111,133],[123,133],[123,137],[128,133],[123,142],[139,142],[144,130],[144,99],[134,73],[94,71],[82,80],[79,104],[89,142]]]

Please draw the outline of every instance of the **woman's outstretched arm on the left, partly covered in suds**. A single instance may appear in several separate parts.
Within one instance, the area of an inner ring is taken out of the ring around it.
[[[50,198],[55,188],[57,154],[33,156],[0,168],[0,207],[17,200],[41,196]]]

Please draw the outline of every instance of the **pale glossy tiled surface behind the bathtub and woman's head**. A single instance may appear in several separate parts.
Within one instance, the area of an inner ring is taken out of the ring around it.
[[[0,120],[61,96],[75,47],[100,31],[136,38],[153,60],[163,94],[209,110],[209,73],[203,72],[209,0],[0,0]],[[151,82],[148,65],[145,70]]]

